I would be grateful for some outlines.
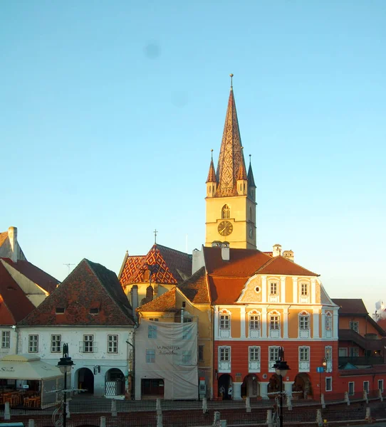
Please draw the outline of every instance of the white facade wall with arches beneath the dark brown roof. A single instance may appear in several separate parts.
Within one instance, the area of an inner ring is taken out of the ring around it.
[[[85,353],[83,336],[93,335],[96,347],[92,353]],[[118,352],[108,352],[108,335],[118,335]],[[28,335],[38,335],[38,351],[28,351]],[[49,364],[57,364],[62,357],[60,352],[51,352],[51,336],[61,335],[61,346],[68,343],[68,355],[75,366],[71,372],[71,386],[78,388],[78,373],[88,368],[93,373],[94,395],[105,394],[105,379],[109,369],[118,368],[127,377],[131,348],[126,341],[132,342],[132,327],[19,327],[19,353],[36,354]],[[95,368],[95,369],[94,369]],[[127,380],[126,380],[127,381]]]

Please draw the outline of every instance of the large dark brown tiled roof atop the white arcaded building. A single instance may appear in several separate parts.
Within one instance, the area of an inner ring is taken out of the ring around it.
[[[56,308],[64,308],[56,314]],[[99,312],[90,313],[91,308]],[[83,259],[19,325],[134,325],[132,309],[113,271]]]

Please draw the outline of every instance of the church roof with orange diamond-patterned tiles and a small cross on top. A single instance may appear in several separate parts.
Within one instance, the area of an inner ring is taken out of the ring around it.
[[[192,255],[155,244],[145,256],[127,256],[120,274],[122,286],[149,281],[146,272],[152,271],[152,283],[177,285],[192,274]]]

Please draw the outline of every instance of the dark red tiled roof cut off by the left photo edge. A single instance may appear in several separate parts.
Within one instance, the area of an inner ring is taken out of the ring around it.
[[[0,262],[0,325],[14,325],[35,306]]]

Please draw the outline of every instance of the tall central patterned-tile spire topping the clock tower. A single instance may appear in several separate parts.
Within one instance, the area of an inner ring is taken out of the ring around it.
[[[233,74],[231,74],[231,78]],[[217,193],[216,196],[237,196],[237,176],[239,169],[246,169],[239,121],[237,120],[236,103],[234,102],[233,86],[229,93],[226,110],[224,133],[222,135],[219,163],[217,164]]]

